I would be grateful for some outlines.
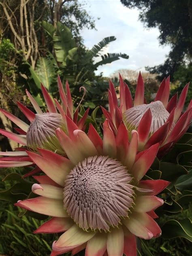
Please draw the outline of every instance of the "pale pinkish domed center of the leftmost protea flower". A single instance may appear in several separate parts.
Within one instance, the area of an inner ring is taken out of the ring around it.
[[[27,146],[34,151],[40,147],[64,154],[64,150],[55,135],[57,128],[66,132],[62,115],[58,113],[36,114],[27,131]]]

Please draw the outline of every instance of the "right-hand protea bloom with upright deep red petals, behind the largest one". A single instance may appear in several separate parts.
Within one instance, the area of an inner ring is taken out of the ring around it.
[[[121,75],[120,106],[113,83],[109,82],[109,111],[102,108],[115,134],[122,122],[128,131],[137,130],[139,134],[139,150],[147,149],[154,143],[160,142],[158,154],[165,154],[176,143],[190,126],[192,117],[192,102],[182,114],[189,83],[183,88],[179,100],[177,94],[169,100],[170,81],[164,79],[153,102],[147,104],[144,98],[144,83],[141,73],[137,82],[134,100],[128,85]]]

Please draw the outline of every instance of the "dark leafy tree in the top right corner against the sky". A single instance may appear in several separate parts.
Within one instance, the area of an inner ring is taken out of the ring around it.
[[[139,8],[140,20],[148,28],[159,28],[160,44],[171,45],[171,51],[164,64],[147,67],[147,70],[158,73],[159,79],[171,75],[171,81],[179,79],[179,85],[183,87],[186,79],[179,77],[180,70],[183,69],[182,67],[185,70],[192,68],[192,0],[121,0],[121,2],[129,8]],[[182,74],[184,75],[183,72]],[[181,79],[185,81],[182,85]]]

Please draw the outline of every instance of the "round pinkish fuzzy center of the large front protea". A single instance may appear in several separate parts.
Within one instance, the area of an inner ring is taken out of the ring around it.
[[[66,178],[64,208],[80,228],[109,231],[133,205],[132,177],[108,156],[88,157]]]

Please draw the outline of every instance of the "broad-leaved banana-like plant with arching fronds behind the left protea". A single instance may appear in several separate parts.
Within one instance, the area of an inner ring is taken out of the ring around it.
[[[68,27],[58,22],[57,28],[55,28],[47,21],[43,21],[41,26],[51,38],[53,54],[49,53],[46,57],[40,57],[35,69],[30,67],[31,77],[34,81],[33,86],[35,85],[37,89],[43,83],[51,94],[55,94],[58,75],[63,81],[68,80],[70,84],[74,85],[74,88],[81,84],[90,85],[91,82],[87,74],[93,73],[98,66],[119,60],[120,57],[129,58],[125,53],[103,54],[103,49],[116,40],[115,36],[105,37],[92,49],[87,50],[83,58],[78,58],[75,38],[73,38],[73,34]],[[98,56],[101,60],[94,63],[94,58]]]

